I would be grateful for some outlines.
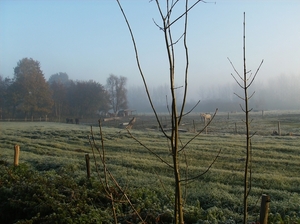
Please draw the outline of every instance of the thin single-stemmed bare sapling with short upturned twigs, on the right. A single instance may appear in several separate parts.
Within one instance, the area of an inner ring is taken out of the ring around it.
[[[253,92],[250,96],[248,96],[248,89],[252,85],[253,81],[256,78],[256,75],[263,63],[263,60],[261,61],[260,65],[258,66],[256,72],[254,73],[254,76],[252,77],[251,70],[247,71],[246,68],[246,22],[245,22],[245,13],[244,13],[244,22],[243,22],[243,75],[240,75],[240,73],[235,69],[233,63],[228,58],[232,68],[235,71],[235,75],[231,74],[231,76],[234,78],[236,83],[240,86],[240,88],[243,89],[244,96],[240,96],[237,93],[234,93],[236,96],[238,96],[240,99],[244,101],[244,107],[240,104],[240,107],[242,111],[245,113],[245,126],[246,126],[246,156],[245,156],[245,169],[244,169],[244,195],[243,195],[243,206],[244,206],[244,216],[243,216],[243,223],[247,223],[248,219],[248,196],[251,191],[251,163],[252,163],[252,156],[251,156],[251,138],[255,134],[250,134],[250,124],[251,120],[249,119],[249,113],[251,112],[252,108],[249,109],[249,100],[254,95],[255,92]],[[239,81],[238,78],[241,80]]]

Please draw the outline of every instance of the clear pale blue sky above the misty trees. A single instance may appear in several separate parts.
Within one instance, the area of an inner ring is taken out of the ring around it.
[[[163,33],[153,22],[161,24],[155,2],[121,3],[146,79],[150,85],[168,83]],[[255,71],[264,59],[256,81],[300,76],[300,1],[213,0],[198,4],[189,17],[192,88],[231,83],[227,57],[242,72],[243,12],[248,70]],[[174,26],[174,39],[181,35],[181,25]],[[182,42],[176,48],[176,82],[182,85]],[[115,74],[126,76],[129,86],[142,85],[128,29],[113,0],[0,0],[0,74],[13,77],[13,68],[24,57],[39,61],[47,80],[66,72],[73,80],[105,84]]]

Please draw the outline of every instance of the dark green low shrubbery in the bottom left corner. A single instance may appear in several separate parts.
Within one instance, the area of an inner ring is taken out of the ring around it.
[[[56,171],[21,164],[0,169],[0,223],[105,223],[104,194]]]

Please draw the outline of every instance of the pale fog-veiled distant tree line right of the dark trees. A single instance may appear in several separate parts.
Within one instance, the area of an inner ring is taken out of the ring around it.
[[[258,74],[256,80],[249,90],[249,95],[254,91],[250,99],[253,110],[300,110],[300,74],[299,75],[278,75],[269,78],[267,81],[260,81]],[[242,89],[228,74],[227,83],[216,83],[215,85],[205,85],[199,83],[199,87],[190,80],[187,109],[189,110],[198,100],[200,104],[194,110],[214,111],[241,111],[240,105],[243,102],[234,93],[243,96]],[[181,86],[181,85],[178,85]],[[170,91],[167,84],[149,86],[152,100],[158,111],[167,111],[166,96],[170,106]],[[178,89],[178,97],[182,98],[183,88]],[[147,100],[145,88],[143,86],[128,87],[129,107],[140,112],[151,111]]]

